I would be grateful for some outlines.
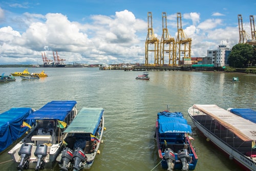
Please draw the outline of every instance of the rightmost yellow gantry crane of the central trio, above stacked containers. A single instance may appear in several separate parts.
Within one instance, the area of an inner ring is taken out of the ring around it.
[[[177,13],[177,29],[178,35],[176,38],[176,58],[178,60],[178,65],[181,64],[181,59],[183,60],[183,65],[191,65],[191,42],[192,39],[185,36],[182,24],[181,24],[181,13]]]

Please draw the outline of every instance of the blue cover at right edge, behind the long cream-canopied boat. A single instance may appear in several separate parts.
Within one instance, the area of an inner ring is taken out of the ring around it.
[[[256,123],[256,111],[252,109],[231,109],[230,112]]]

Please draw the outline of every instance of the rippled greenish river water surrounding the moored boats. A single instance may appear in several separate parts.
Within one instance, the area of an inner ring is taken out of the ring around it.
[[[24,69],[0,68],[0,74]],[[187,110],[193,104],[256,110],[255,74],[151,71],[150,80],[136,80],[139,71],[98,68],[28,68],[28,71],[39,73],[42,69],[49,75],[47,78],[28,81],[16,77],[14,82],[0,84],[0,113],[21,107],[38,110],[52,100],[76,100],[78,111],[83,107],[103,108],[104,142],[90,170],[163,170],[158,165],[154,134],[157,113],[166,110],[167,105],[170,111],[182,112],[193,126],[193,144],[199,158],[195,170],[241,170],[199,134]],[[231,82],[234,76],[240,82]],[[1,168],[16,170],[9,160],[8,151],[2,153]]]

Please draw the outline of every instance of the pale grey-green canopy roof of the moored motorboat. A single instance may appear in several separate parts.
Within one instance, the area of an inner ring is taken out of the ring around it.
[[[91,133],[94,135],[103,112],[102,108],[82,108],[64,133]]]

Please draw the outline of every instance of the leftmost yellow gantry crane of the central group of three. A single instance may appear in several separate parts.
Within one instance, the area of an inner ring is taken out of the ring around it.
[[[150,45],[150,47],[148,47]],[[153,45],[153,48],[152,48]],[[147,13],[147,37],[145,42],[145,65],[148,66],[148,53],[154,54],[154,65],[159,65],[159,39],[153,31],[152,12]]]

